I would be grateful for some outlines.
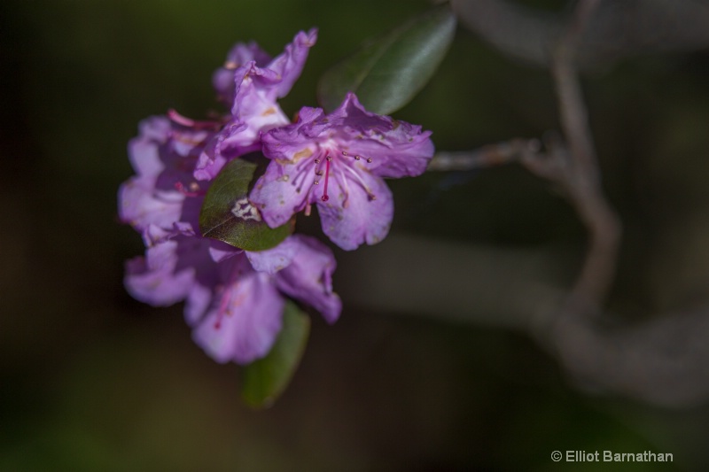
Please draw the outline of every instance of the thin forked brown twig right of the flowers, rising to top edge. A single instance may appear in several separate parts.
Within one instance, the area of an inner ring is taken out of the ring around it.
[[[467,152],[439,152],[429,170],[484,168],[518,162],[529,171],[556,182],[588,228],[588,253],[571,290],[567,309],[583,312],[602,305],[615,272],[620,222],[604,197],[588,113],[576,70],[576,50],[599,0],[581,0],[553,54],[551,72],[556,84],[561,127],[566,143],[553,136],[541,151],[538,140],[512,139]]]

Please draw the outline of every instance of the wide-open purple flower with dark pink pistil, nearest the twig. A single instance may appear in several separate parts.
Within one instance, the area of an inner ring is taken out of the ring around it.
[[[378,243],[393,218],[382,177],[422,174],[433,156],[430,135],[367,112],[352,93],[328,115],[304,107],[296,123],[262,135],[272,160],[250,199],[271,227],[316,204],[323,232],[342,249]]]

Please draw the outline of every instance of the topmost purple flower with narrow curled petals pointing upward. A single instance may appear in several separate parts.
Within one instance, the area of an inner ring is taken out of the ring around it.
[[[316,29],[301,31],[273,59],[255,43],[237,44],[230,51],[213,81],[220,97],[233,100],[231,119],[214,136],[214,145],[199,157],[194,172],[198,180],[214,179],[230,159],[260,149],[262,131],[290,122],[277,99],[285,97],[300,77],[316,40]],[[229,85],[229,76],[233,86]]]

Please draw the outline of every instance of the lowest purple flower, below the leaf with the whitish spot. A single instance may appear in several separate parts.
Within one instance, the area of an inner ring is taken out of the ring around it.
[[[266,355],[282,327],[285,297],[339,317],[332,292],[335,259],[308,236],[268,251],[247,252],[182,232],[152,231],[145,258],[129,261],[126,286],[153,306],[186,300],[192,337],[218,362],[247,364]]]

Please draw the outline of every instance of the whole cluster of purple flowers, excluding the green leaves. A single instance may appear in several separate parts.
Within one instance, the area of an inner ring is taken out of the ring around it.
[[[204,237],[206,192],[231,160],[261,151],[270,159],[245,213],[271,228],[317,205],[323,232],[342,249],[384,238],[393,199],[384,177],[421,174],[430,132],[367,112],[353,94],[337,110],[304,107],[291,122],[277,103],[292,88],[316,43],[300,32],[276,58],[255,43],[237,44],[213,77],[230,113],[196,121],[170,111],[140,125],[129,143],[136,172],[119,190],[121,221],[141,233],[144,257],[127,263],[130,294],[153,306],[185,302],[193,338],[214,360],[241,364],[269,352],[287,298],[338,319],[331,250],[292,235],[264,251],[244,251]],[[245,214],[244,213],[244,214]]]

